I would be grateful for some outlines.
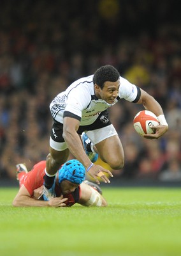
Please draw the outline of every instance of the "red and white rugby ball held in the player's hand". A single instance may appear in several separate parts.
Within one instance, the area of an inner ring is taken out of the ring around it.
[[[151,126],[159,125],[157,116],[148,110],[142,110],[134,116],[133,126],[138,134],[154,134],[155,129],[150,128]]]

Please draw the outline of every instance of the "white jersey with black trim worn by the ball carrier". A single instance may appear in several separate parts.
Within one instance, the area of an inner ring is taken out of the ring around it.
[[[120,77],[119,97],[113,104],[98,99],[94,93],[93,76],[82,77],[59,93],[50,103],[50,111],[55,120],[63,123],[64,116],[80,120],[80,125],[95,122],[102,111],[116,104],[119,99],[137,102],[140,99],[140,88]]]

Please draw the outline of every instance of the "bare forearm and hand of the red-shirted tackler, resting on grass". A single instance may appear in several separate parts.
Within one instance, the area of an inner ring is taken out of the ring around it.
[[[19,189],[17,195],[13,200],[13,206],[23,207],[23,206],[36,206],[36,207],[65,207],[64,203],[68,198],[52,198],[50,201],[42,201],[37,200],[36,198],[32,198],[24,185]]]

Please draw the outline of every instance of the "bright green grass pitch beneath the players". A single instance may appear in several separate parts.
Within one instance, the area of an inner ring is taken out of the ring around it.
[[[180,256],[181,189],[107,188],[108,207],[12,207],[0,188],[2,256]]]

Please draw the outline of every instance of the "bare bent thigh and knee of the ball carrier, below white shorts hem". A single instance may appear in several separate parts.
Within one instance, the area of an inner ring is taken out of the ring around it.
[[[124,150],[118,135],[111,136],[96,144],[99,156],[113,169],[124,166]]]

